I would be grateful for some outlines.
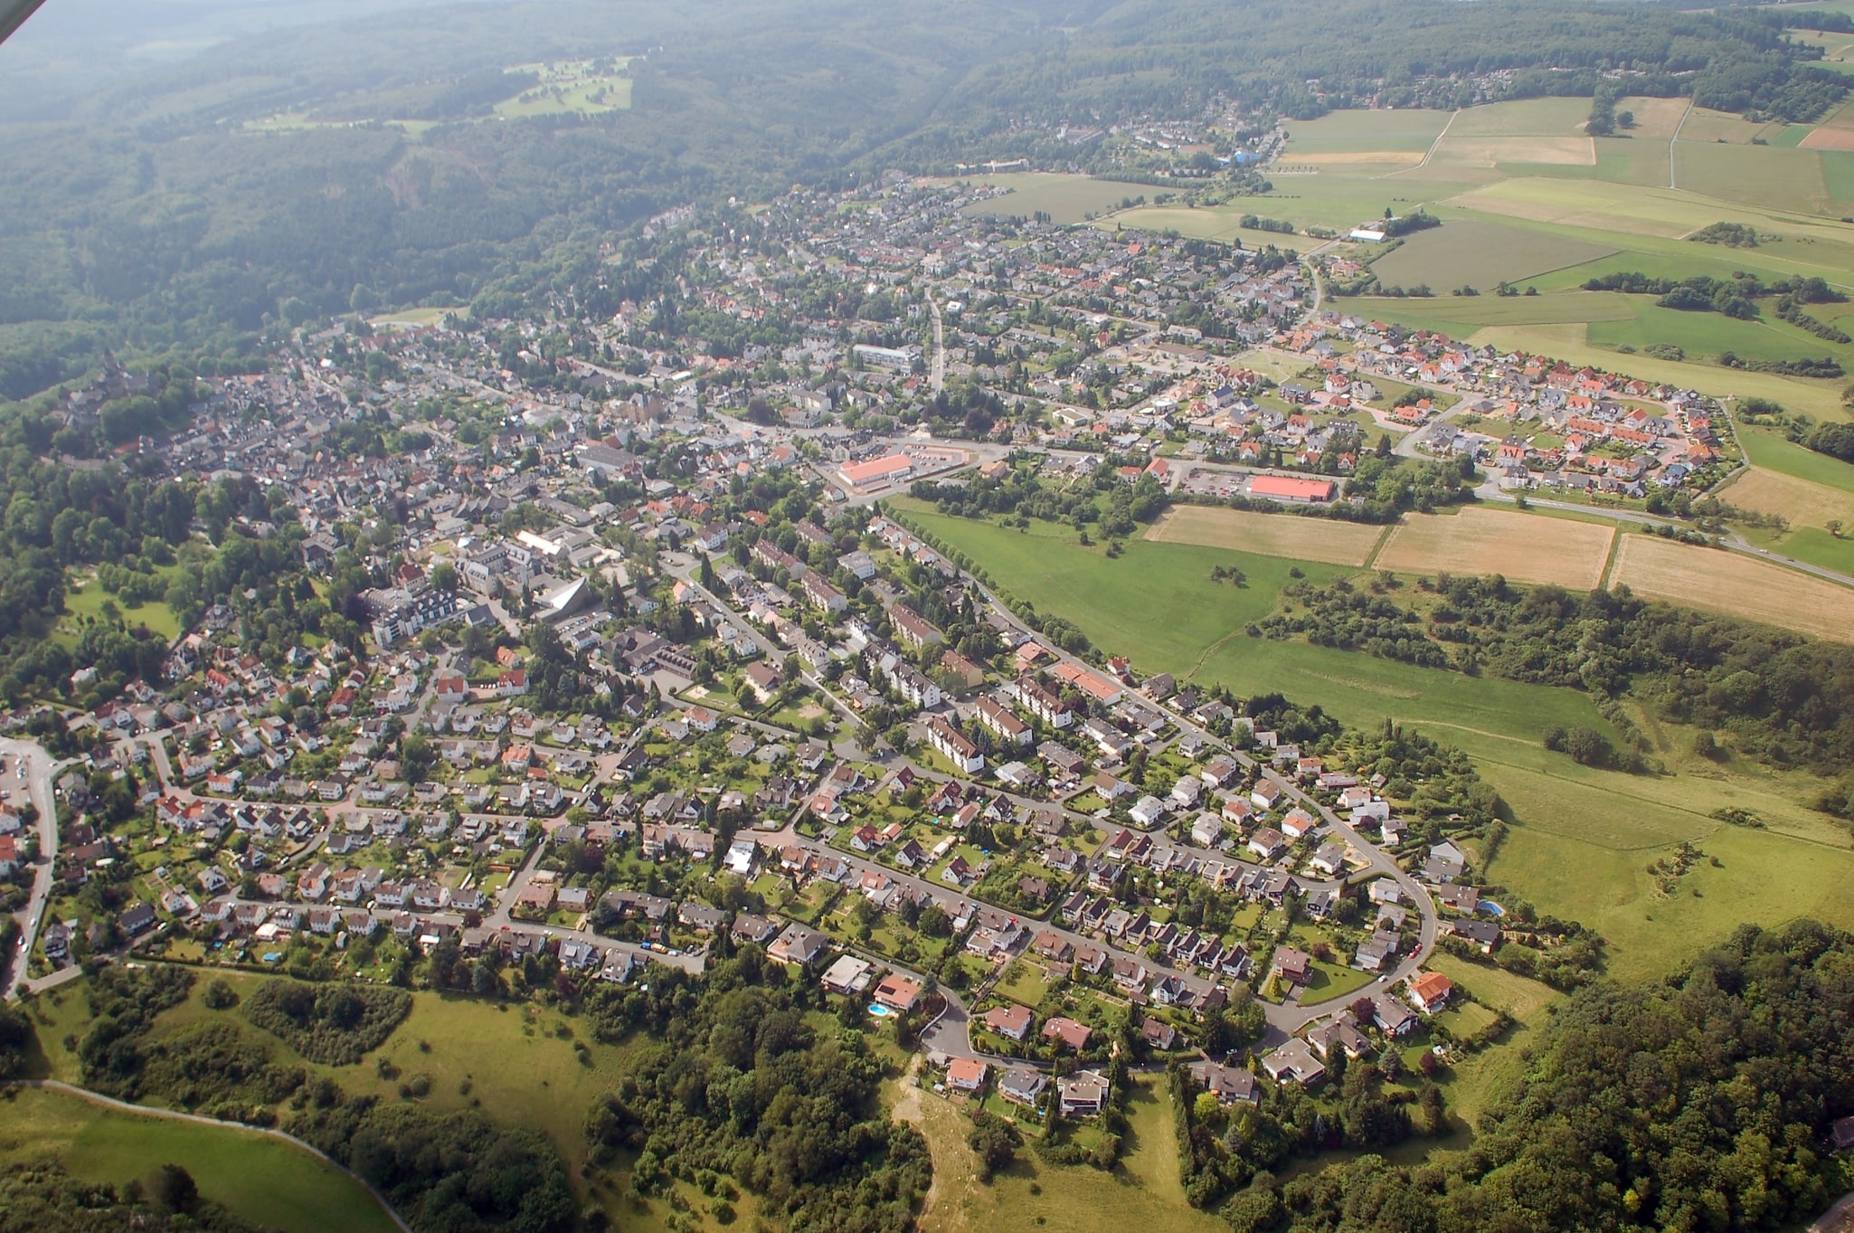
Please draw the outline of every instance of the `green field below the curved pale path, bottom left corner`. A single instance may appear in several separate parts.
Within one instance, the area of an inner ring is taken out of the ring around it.
[[[347,1174],[280,1138],[102,1109],[61,1092],[4,1096],[0,1161],[56,1157],[85,1181],[122,1185],[180,1164],[200,1194],[245,1220],[287,1233],[393,1233],[395,1226]]]

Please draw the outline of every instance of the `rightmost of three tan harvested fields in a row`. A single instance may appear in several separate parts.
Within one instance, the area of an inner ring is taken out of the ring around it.
[[[1798,634],[1854,642],[1854,591],[1743,553],[1624,534],[1609,584]]]

